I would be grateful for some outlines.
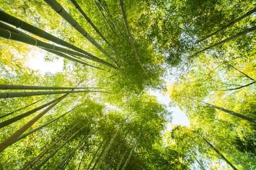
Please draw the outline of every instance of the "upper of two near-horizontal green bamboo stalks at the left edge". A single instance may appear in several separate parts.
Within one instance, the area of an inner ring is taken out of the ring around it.
[[[54,86],[0,84],[0,90],[75,90],[75,89],[88,89],[88,88],[99,88],[99,87],[54,87]]]

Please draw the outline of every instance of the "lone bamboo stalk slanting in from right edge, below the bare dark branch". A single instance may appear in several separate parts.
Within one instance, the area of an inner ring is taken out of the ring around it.
[[[218,106],[216,106],[216,105],[213,105],[213,104],[210,104],[210,103],[207,103],[207,102],[198,101],[197,99],[193,99],[193,98],[189,98],[189,97],[186,97],[186,98],[191,99],[191,100],[194,100],[194,101],[197,101],[197,102],[199,102],[199,103],[201,103],[201,104],[208,105],[208,106],[210,106],[210,107],[212,107],[212,108],[216,108],[216,109],[221,110],[221,111],[223,111],[223,112],[226,112],[226,113],[228,113],[228,114],[234,115],[234,116],[236,116],[236,117],[238,117],[238,118],[245,119],[245,120],[248,120],[248,121],[251,121],[251,122],[256,123],[256,119],[250,118],[250,117],[248,117],[248,116],[241,115],[241,114],[239,114],[239,113],[233,112],[233,111],[228,110],[228,109],[224,109],[224,108],[222,108],[222,107],[218,107]]]

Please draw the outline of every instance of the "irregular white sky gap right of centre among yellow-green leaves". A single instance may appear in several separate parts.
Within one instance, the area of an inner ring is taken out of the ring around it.
[[[180,125],[189,126],[188,117],[185,115],[184,112],[182,112],[178,107],[168,106],[169,102],[171,101],[168,94],[164,95],[164,94],[160,93],[159,91],[155,91],[155,90],[150,90],[150,94],[156,96],[159,103],[167,105],[167,110],[171,111],[173,113],[172,114],[172,116],[173,116],[172,124],[173,125],[180,124]],[[171,125],[168,124],[167,131],[170,131],[170,130],[171,130]]]

